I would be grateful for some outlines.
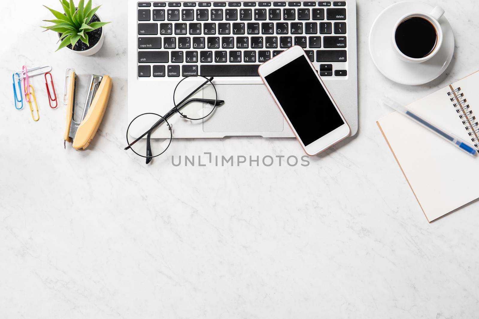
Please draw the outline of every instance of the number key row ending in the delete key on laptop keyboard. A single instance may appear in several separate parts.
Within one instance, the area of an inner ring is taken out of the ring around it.
[[[324,20],[323,8],[304,9],[138,9],[138,21],[279,21]],[[346,20],[346,9],[326,9],[327,20]]]

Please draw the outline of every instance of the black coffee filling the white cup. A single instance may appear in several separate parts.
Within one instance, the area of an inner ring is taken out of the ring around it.
[[[431,54],[437,43],[437,33],[433,24],[420,17],[412,17],[401,22],[394,37],[399,50],[415,59]]]

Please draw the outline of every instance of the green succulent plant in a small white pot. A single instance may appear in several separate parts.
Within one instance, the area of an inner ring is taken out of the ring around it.
[[[44,6],[53,13],[56,19],[44,20],[54,25],[42,27],[58,33],[60,45],[58,50],[67,47],[80,55],[94,55],[97,53],[105,38],[103,26],[110,22],[102,22],[96,11],[100,6],[91,8],[91,0],[84,4],[80,0],[75,6],[73,0],[59,0],[64,13]],[[46,31],[45,30],[45,31]]]

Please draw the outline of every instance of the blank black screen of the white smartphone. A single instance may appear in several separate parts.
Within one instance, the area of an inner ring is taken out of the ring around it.
[[[305,146],[342,124],[304,55],[264,77]]]

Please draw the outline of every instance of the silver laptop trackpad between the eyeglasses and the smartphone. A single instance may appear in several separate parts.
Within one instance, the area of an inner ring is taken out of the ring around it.
[[[203,120],[204,132],[283,132],[283,114],[263,84],[215,85],[225,104]]]

